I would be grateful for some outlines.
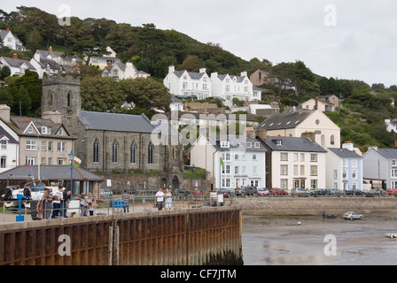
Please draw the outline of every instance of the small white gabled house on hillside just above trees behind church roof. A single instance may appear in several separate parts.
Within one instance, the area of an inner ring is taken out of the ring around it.
[[[136,66],[130,62],[115,63],[109,65],[102,72],[103,77],[112,77],[114,80],[126,80],[126,79],[136,79],[136,78],[148,78],[151,75],[145,73],[144,71],[138,71]]]

